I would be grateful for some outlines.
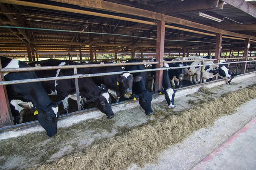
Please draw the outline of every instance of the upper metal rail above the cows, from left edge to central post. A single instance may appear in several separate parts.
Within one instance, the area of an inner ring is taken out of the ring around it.
[[[18,71],[41,71],[41,70],[58,70],[70,68],[90,68],[90,67],[110,67],[110,66],[125,66],[125,65],[143,65],[143,64],[158,64],[158,62],[129,62],[129,63],[111,63],[111,64],[81,64],[81,65],[62,65],[62,66],[43,66],[43,67],[26,67],[26,68],[2,68],[2,73],[18,72]]]

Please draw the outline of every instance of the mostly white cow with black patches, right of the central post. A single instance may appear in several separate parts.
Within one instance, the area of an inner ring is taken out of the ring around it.
[[[195,60],[195,59],[204,59],[202,57],[180,57],[180,60]],[[219,76],[228,82],[231,78],[231,75],[228,74],[228,69],[223,65],[223,66],[218,66],[215,65],[214,62],[212,61],[205,61],[203,60],[203,64],[212,64],[212,65],[207,65],[203,66],[203,82],[206,82],[207,79],[213,78],[215,76]],[[190,82],[191,84],[198,84],[200,81],[200,66],[201,61],[191,61],[187,62],[187,65],[190,65],[191,67],[185,69],[185,73],[189,75]],[[193,77],[193,80],[192,80]],[[194,81],[194,82],[193,82]]]

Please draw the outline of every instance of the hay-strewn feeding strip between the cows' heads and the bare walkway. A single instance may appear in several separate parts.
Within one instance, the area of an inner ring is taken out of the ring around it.
[[[41,132],[1,140],[1,169],[127,169],[132,163],[155,163],[169,145],[255,98],[254,83],[201,88],[175,99],[173,110],[166,101],[152,104],[152,116],[136,107],[116,112],[111,120],[104,116],[59,128],[51,138]]]

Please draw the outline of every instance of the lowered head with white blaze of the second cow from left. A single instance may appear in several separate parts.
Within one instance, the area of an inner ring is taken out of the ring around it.
[[[112,119],[115,116],[110,106],[111,97],[105,85],[101,85],[101,92],[87,102],[91,101],[95,102],[96,108],[98,108],[102,113],[105,113],[108,119]]]

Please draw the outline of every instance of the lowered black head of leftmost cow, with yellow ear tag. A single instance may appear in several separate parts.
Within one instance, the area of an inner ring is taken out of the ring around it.
[[[26,105],[19,104],[24,109],[29,109],[34,115],[38,115],[38,122],[46,130],[48,136],[57,133],[57,122],[60,111],[58,110],[59,102],[51,102],[48,106],[42,108],[28,108]]]

